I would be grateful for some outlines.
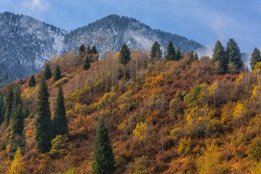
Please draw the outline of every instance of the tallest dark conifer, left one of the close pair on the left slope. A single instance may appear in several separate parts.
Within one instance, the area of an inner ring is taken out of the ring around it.
[[[45,153],[51,148],[52,121],[49,109],[49,91],[45,78],[41,79],[38,91],[38,117],[36,118],[36,145],[38,153]]]

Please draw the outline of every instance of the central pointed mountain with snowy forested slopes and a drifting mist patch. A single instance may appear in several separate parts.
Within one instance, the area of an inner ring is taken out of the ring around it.
[[[169,41],[183,52],[196,50],[203,45],[184,36],[155,30],[129,17],[111,14],[87,26],[65,35],[66,50],[78,50],[80,44],[96,45],[101,54],[118,51],[126,43],[135,50],[148,50],[154,41],[159,41],[163,51]]]

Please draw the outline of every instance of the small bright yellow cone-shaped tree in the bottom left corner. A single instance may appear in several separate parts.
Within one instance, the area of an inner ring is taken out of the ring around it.
[[[21,149],[18,148],[14,155],[14,160],[12,161],[10,174],[23,174],[25,173],[23,168]]]

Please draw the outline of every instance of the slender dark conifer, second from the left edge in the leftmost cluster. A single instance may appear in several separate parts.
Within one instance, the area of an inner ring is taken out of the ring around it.
[[[4,116],[4,120],[6,122],[6,124],[9,124],[10,122],[10,117],[12,114],[12,102],[14,100],[14,94],[12,91],[13,87],[12,85],[8,86],[8,92],[5,95],[5,116]]]

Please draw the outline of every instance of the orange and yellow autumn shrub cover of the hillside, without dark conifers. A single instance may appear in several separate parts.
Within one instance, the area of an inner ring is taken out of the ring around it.
[[[115,155],[115,173],[260,173],[260,67],[220,74],[211,59],[191,52],[180,61],[150,63],[148,52],[131,52],[126,67],[119,53],[82,68],[82,56],[53,58],[63,78],[47,81],[52,116],[63,85],[69,138],[63,151],[38,154],[35,142],[37,96],[43,72],[16,80],[25,109],[25,173],[91,173],[99,118],[106,120]],[[79,64],[76,64],[79,63]],[[124,74],[126,76],[124,76]],[[5,93],[6,88],[2,89]],[[27,111],[26,111],[27,110]],[[10,127],[0,129],[0,173],[7,173]],[[71,169],[72,170],[72,169]]]

